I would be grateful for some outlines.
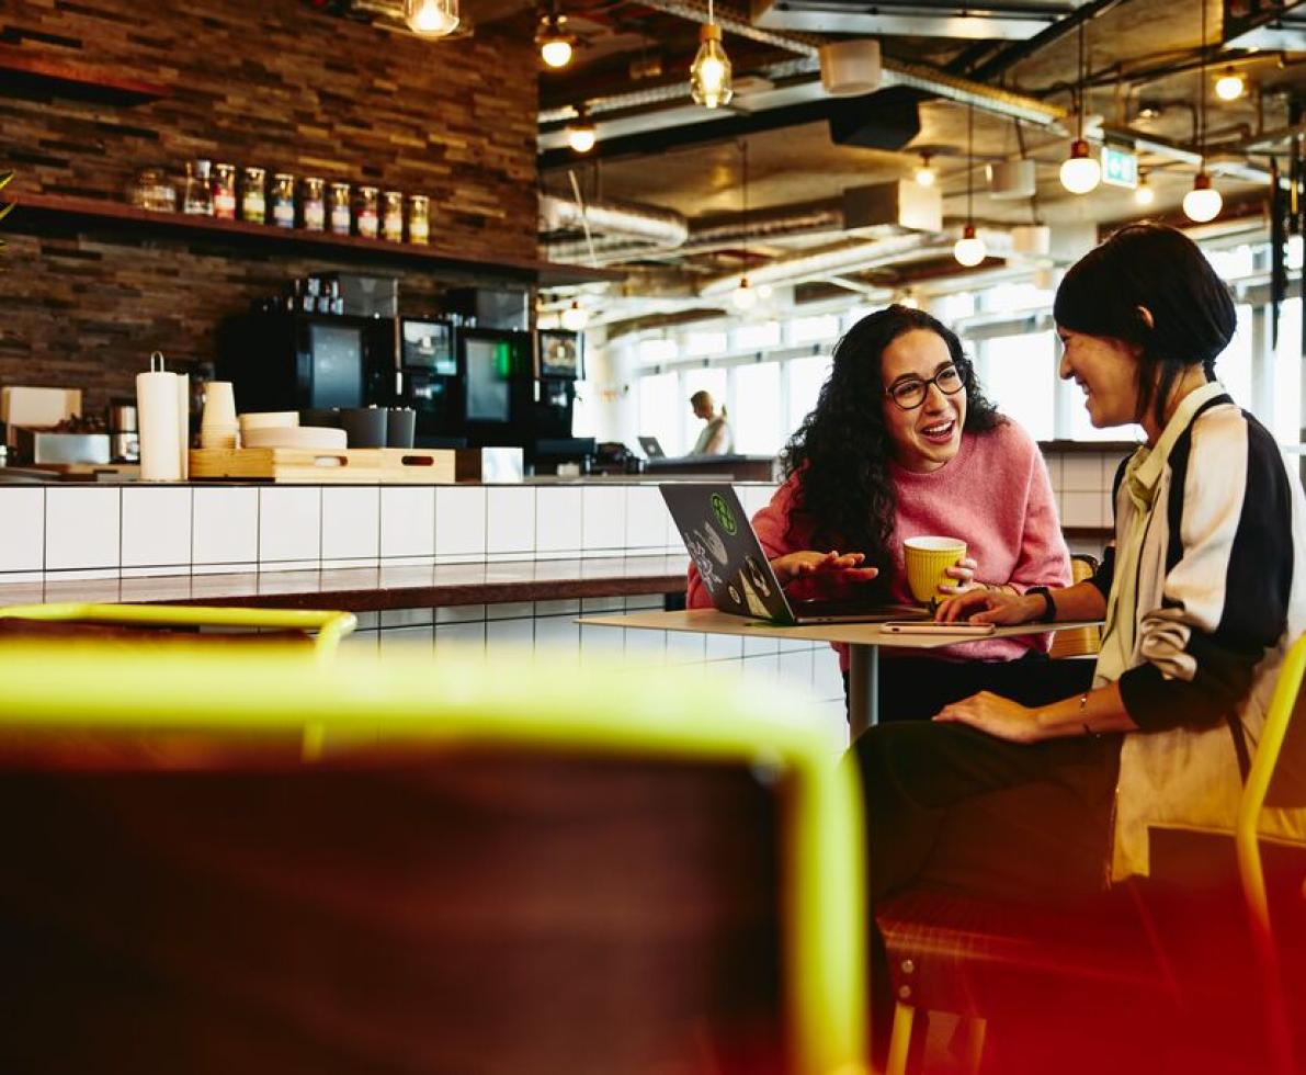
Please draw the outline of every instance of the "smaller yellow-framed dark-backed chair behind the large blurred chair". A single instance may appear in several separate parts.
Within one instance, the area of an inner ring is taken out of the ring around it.
[[[205,605],[9,605],[0,607],[0,641],[12,636],[99,637],[153,641],[311,641],[320,656],[336,652],[358,626],[353,613],[312,609],[242,609]],[[260,632],[223,634],[223,632]],[[312,634],[310,634],[312,632]]]

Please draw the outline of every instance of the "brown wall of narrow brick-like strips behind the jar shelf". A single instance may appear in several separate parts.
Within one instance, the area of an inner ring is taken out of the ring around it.
[[[427,193],[434,244],[537,255],[529,33],[488,26],[422,42],[299,0],[5,0],[0,40],[171,89],[123,106],[0,86],[0,168],[18,172],[14,191],[123,200],[137,168],[179,175],[185,159],[208,157]],[[151,350],[212,361],[218,320],[294,276],[376,272],[129,229],[7,230],[0,384],[81,387],[88,409],[129,394]],[[474,282],[385,272],[402,277],[411,312],[430,311],[449,283]]]

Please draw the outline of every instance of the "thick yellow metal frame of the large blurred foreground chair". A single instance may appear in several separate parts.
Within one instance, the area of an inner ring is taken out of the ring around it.
[[[236,656],[179,644],[159,661],[123,645],[18,640],[0,649],[0,735],[312,730],[325,755],[445,745],[764,767],[780,777],[784,806],[790,1070],[868,1071],[861,782],[801,703],[709,677],[687,692],[618,665],[589,665],[581,678],[511,653],[490,664],[479,648],[384,662],[343,653],[311,675],[294,669],[274,645]]]

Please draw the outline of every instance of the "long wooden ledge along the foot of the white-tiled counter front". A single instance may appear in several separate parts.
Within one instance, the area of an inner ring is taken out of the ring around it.
[[[0,585],[0,605],[55,601],[159,605],[257,605],[351,613],[683,593],[688,556],[521,560],[431,567],[162,575],[149,579],[47,579]]]

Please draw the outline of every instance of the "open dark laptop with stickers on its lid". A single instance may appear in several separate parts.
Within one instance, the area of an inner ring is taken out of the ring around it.
[[[930,619],[918,605],[870,597],[790,601],[731,486],[682,482],[658,489],[717,611],[791,626]]]

